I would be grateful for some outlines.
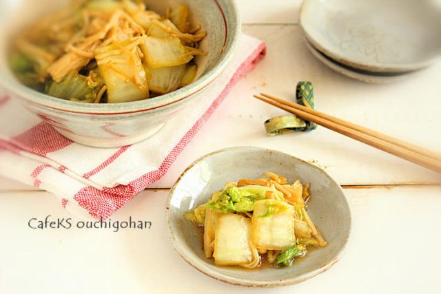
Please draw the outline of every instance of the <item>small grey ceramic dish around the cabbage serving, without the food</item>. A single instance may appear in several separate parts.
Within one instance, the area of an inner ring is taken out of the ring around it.
[[[249,271],[215,266],[212,259],[204,257],[201,232],[184,219],[185,212],[207,202],[226,182],[260,178],[265,171],[285,176],[289,182],[300,178],[311,184],[308,213],[329,244],[287,268]],[[196,160],[171,189],[166,219],[174,249],[195,269],[229,284],[255,287],[296,284],[326,271],[340,258],[351,228],[345,195],[325,171],[288,154],[257,147],[222,149]]]

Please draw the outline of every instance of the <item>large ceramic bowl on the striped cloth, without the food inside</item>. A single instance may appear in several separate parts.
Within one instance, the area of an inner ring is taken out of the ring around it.
[[[85,145],[119,147],[152,136],[190,103],[203,98],[207,85],[227,66],[240,36],[240,17],[234,0],[147,0],[147,7],[163,14],[167,6],[185,3],[192,23],[207,31],[201,48],[207,56],[196,59],[196,80],[174,92],[143,101],[113,104],[76,103],[54,98],[21,85],[8,67],[12,36],[68,0],[1,1],[0,8],[0,86],[11,96],[25,101],[26,107],[64,136]],[[19,16],[19,17],[18,17]],[[196,95],[198,93],[198,95]]]

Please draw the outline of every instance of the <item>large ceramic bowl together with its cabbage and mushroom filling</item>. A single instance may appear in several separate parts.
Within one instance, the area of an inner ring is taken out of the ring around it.
[[[0,14],[0,86],[96,147],[139,142],[197,103],[240,35],[234,0],[3,1]]]

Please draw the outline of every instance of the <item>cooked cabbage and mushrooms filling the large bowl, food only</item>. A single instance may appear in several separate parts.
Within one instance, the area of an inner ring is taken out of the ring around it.
[[[207,33],[185,4],[161,16],[138,0],[71,1],[17,37],[10,65],[21,83],[70,101],[122,103],[197,78],[194,56],[207,54],[198,44]],[[88,78],[88,87],[67,91],[72,76]]]

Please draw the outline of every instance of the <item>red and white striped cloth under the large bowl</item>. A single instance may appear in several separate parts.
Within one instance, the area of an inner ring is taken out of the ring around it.
[[[109,218],[165,175],[232,87],[265,56],[265,43],[243,34],[229,65],[160,132],[121,148],[80,145],[0,92],[0,175],[56,195],[81,218]],[[208,94],[207,94],[208,93]]]

